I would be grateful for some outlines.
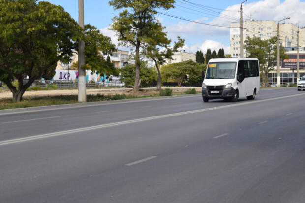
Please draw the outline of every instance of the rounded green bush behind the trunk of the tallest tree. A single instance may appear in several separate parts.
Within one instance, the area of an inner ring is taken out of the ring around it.
[[[120,69],[120,81],[126,86],[134,86],[135,65],[128,64]],[[148,67],[147,61],[141,63],[140,68],[141,87],[149,87],[157,78],[157,72],[154,68]]]

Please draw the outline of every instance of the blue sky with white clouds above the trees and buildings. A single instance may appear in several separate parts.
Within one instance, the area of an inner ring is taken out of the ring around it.
[[[78,20],[78,0],[46,0],[61,5],[65,11]],[[230,22],[240,19],[240,3],[242,0],[176,0],[175,8],[158,10],[159,12],[213,25],[229,26]],[[120,10],[109,6],[109,0],[84,0],[85,24],[91,24],[111,37],[118,44],[115,32],[109,30],[112,18]],[[204,7],[205,6],[205,7]],[[243,4],[243,19],[281,20],[290,17],[286,23],[305,26],[305,0],[248,0]],[[229,28],[207,26],[184,21],[182,19],[158,14],[157,18],[166,27],[167,36],[175,41],[177,36],[185,39],[183,50],[195,53],[207,48],[218,50],[224,48],[229,53]],[[119,49],[128,50],[118,46]]]

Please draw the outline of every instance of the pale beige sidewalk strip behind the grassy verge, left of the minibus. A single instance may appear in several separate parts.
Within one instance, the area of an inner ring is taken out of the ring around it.
[[[169,88],[175,91],[186,91],[188,89],[195,88],[196,91],[201,91],[201,87],[162,87],[163,89]],[[141,88],[147,91],[155,91],[155,87]],[[132,88],[109,88],[109,89],[87,89],[87,95],[96,95],[96,94],[130,94],[132,93]],[[77,95],[77,89],[64,89],[64,90],[41,90],[41,91],[26,91],[24,98],[27,97],[41,97],[41,96],[58,96],[58,95]],[[10,91],[0,92],[0,99],[10,99],[12,98],[12,93]]]

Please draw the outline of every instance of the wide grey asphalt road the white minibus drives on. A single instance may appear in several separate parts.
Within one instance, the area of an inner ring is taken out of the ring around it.
[[[305,93],[1,115],[0,203],[304,203]]]

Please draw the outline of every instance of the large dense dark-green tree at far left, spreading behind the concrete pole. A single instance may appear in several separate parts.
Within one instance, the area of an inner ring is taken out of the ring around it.
[[[58,61],[69,62],[81,38],[89,45],[89,64],[98,61],[93,56],[97,49],[113,45],[97,32],[90,25],[83,30],[61,6],[49,2],[0,0],[0,80],[12,91],[13,101],[21,101],[34,80],[51,77]]]

